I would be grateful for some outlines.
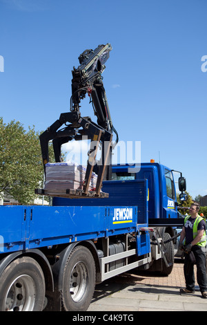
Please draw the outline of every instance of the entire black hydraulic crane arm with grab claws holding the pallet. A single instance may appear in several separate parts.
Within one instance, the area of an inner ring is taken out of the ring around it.
[[[110,179],[110,165],[112,154],[112,132],[117,131],[112,125],[106,91],[103,87],[102,76],[105,63],[112,50],[110,44],[99,45],[95,50],[85,50],[79,56],[80,65],[72,71],[72,96],[70,98],[70,112],[61,113],[59,120],[53,123],[40,138],[43,165],[49,162],[48,142],[52,140],[55,152],[55,161],[61,162],[61,145],[70,140],[82,140],[87,136],[91,140],[88,152],[86,180],[83,185],[83,193],[88,194],[88,186],[93,167],[97,163],[95,158],[99,144],[101,144],[101,163],[97,167],[97,187],[95,192],[99,196],[102,180]],[[82,118],[80,102],[86,97],[91,98],[92,105],[97,115],[97,124],[88,117]],[[68,122],[70,124],[68,124]],[[60,129],[62,125],[66,127]],[[117,140],[118,141],[118,135]]]

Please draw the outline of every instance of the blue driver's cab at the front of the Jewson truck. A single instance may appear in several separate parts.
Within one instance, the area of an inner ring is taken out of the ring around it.
[[[182,177],[180,171],[176,171],[180,174],[178,178],[180,201],[185,201],[187,194],[186,191],[186,179]],[[112,180],[147,180],[148,184],[148,225],[149,227],[155,227],[159,231],[160,237],[164,241],[173,239],[170,243],[166,244],[166,252],[168,260],[172,263],[174,256],[178,250],[177,241],[177,223],[182,223],[182,219],[179,217],[177,211],[177,197],[175,188],[174,170],[155,163],[141,163],[135,165],[113,165],[112,166]],[[137,195],[138,196],[138,195]],[[150,232],[150,240],[152,241],[154,234]],[[156,256],[155,252],[157,248],[152,245],[152,254]],[[170,274],[170,268],[165,268],[161,259],[155,260],[150,264],[150,271],[158,271],[164,275]],[[164,269],[163,269],[164,267]],[[146,269],[146,266],[144,266]]]

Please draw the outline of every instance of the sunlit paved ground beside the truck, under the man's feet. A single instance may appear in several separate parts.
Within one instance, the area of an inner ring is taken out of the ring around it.
[[[207,299],[201,296],[197,281],[194,294],[181,294],[180,288],[185,288],[184,261],[175,259],[166,277],[131,270],[98,284],[87,311],[207,311]]]

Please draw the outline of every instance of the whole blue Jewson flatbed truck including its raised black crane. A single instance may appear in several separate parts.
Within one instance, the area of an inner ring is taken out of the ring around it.
[[[83,311],[95,284],[121,272],[172,271],[174,228],[181,224],[172,171],[156,163],[111,164],[119,137],[101,77],[111,49],[100,45],[79,56],[80,66],[72,71],[70,112],[61,113],[39,137],[45,171],[50,140],[56,163],[61,163],[63,143],[86,136],[91,140],[83,189],[59,195],[37,189],[37,194],[52,196],[52,206],[0,206],[1,311]],[[87,93],[97,124],[81,117],[79,104]],[[113,144],[112,133],[117,135]],[[97,183],[89,191],[93,170]],[[179,189],[184,199],[182,176]]]

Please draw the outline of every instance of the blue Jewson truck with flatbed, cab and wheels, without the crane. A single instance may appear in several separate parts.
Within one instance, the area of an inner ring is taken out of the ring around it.
[[[170,274],[181,224],[172,171],[139,169],[113,166],[108,198],[0,207],[0,310],[87,310],[95,284],[121,272]]]

